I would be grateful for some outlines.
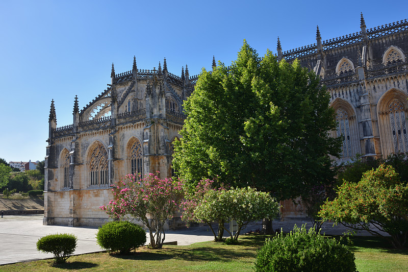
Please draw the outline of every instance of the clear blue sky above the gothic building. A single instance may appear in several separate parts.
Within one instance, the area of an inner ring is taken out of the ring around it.
[[[399,2],[399,4],[398,4]],[[243,39],[260,55],[408,18],[408,1],[8,1],[0,0],[0,158],[45,156],[50,102],[57,126],[80,109],[116,73],[158,67],[171,73],[230,64]]]

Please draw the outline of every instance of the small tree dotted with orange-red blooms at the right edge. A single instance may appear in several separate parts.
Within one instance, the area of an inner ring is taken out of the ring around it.
[[[395,248],[403,248],[408,237],[408,186],[392,166],[381,164],[365,172],[358,183],[344,181],[336,199],[326,201],[319,216],[376,236],[384,237],[380,231],[386,232]]]

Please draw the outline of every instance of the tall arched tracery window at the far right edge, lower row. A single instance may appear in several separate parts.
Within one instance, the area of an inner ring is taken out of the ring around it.
[[[394,99],[388,107],[388,112],[394,153],[407,153],[408,137],[406,135],[406,116],[402,103]]]

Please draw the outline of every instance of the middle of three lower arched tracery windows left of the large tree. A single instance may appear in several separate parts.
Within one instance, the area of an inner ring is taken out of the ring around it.
[[[97,143],[89,162],[91,185],[108,184],[108,154],[105,147]]]

